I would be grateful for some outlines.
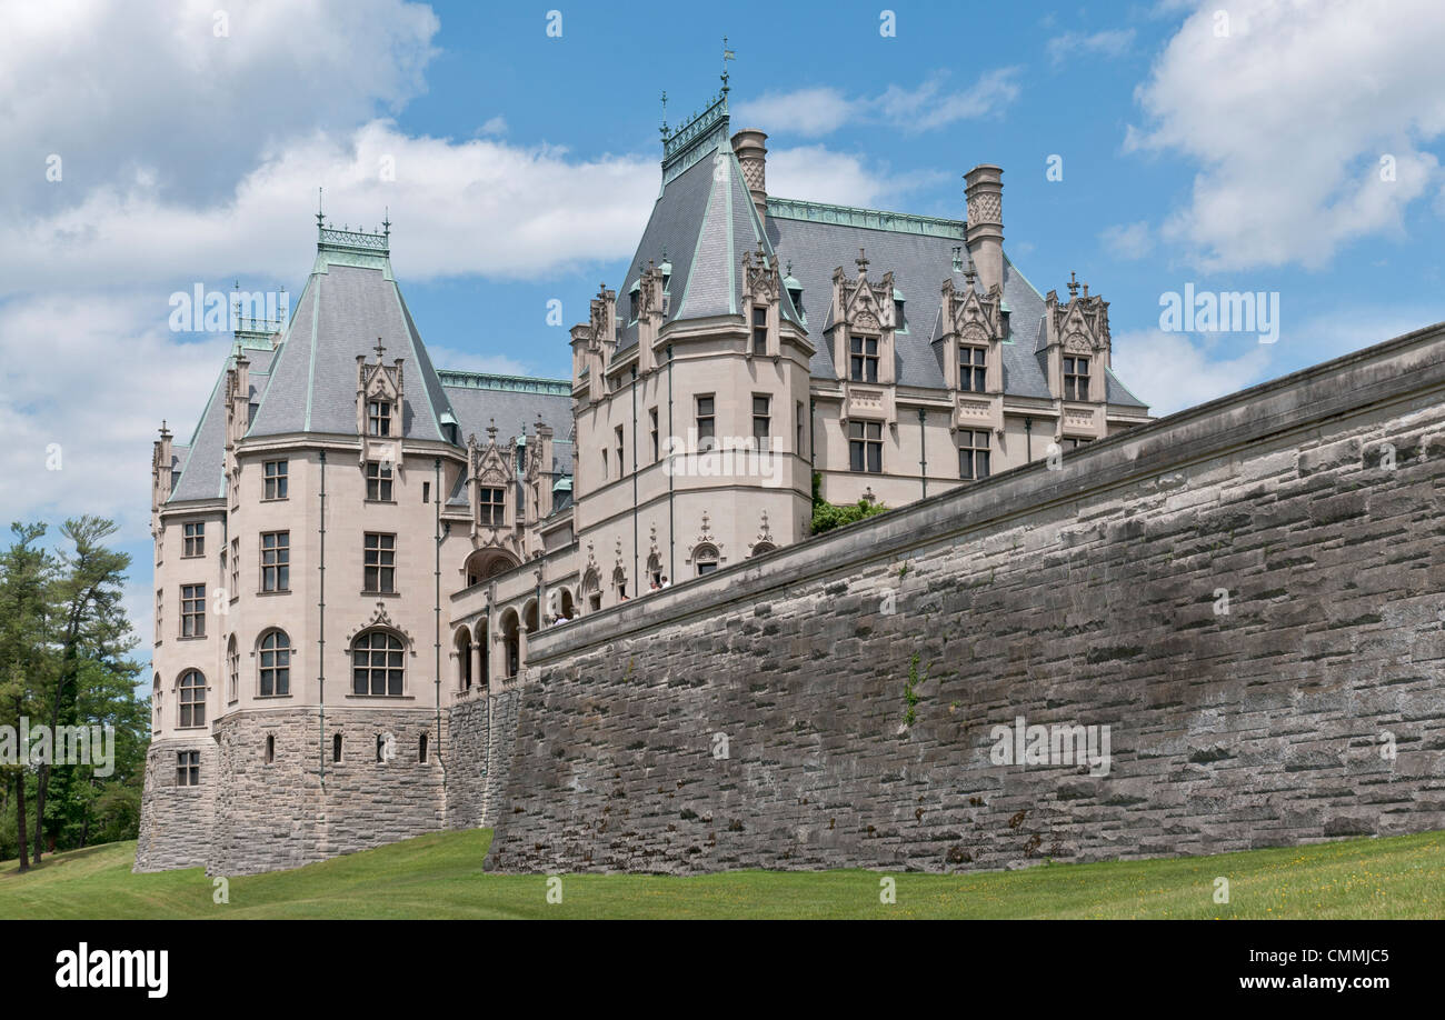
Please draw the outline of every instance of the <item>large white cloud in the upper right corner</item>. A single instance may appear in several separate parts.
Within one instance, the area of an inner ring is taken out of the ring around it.
[[[1240,0],[1227,13],[1224,36],[1214,4],[1188,17],[1136,90],[1147,123],[1126,149],[1201,165],[1163,237],[1228,270],[1319,267],[1357,238],[1403,235],[1406,208],[1442,181],[1425,146],[1445,136],[1445,6]]]

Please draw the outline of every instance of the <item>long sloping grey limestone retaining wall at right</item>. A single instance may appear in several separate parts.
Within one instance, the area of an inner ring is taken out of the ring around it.
[[[1435,328],[536,634],[488,867],[1445,828],[1442,491]],[[1020,717],[1107,774],[998,763]]]

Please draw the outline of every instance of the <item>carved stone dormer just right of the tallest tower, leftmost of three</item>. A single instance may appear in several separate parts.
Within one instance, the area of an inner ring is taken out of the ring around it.
[[[834,368],[844,390],[842,423],[857,418],[896,426],[893,273],[873,283],[866,250],[858,248],[854,262],[858,275],[853,279],[841,266],[832,272],[828,327]]]

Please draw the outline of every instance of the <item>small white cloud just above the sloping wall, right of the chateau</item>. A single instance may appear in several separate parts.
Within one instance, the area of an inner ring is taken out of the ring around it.
[[[1162,416],[1261,381],[1270,354],[1256,344],[1224,357],[1212,337],[1134,329],[1114,335],[1111,360],[1129,392],[1149,405],[1149,413]]]

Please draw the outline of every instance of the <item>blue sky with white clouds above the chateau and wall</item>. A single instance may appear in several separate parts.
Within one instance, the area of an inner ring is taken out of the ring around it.
[[[998,163],[1006,250],[1111,302],[1159,412],[1445,319],[1435,0],[558,10],[559,36],[546,4],[6,4],[0,510],[116,517],[143,636],[150,439],[189,433],[228,342],[169,329],[171,295],[295,301],[319,185],[337,224],[390,209],[441,367],[565,376],[656,196],[659,95],[701,108],[724,35],[772,194],[961,218],[962,173]],[[1162,332],[1186,285],[1277,293],[1277,342]]]

